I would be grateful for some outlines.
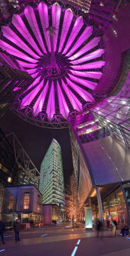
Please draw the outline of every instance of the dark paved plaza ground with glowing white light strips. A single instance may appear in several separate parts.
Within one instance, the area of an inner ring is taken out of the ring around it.
[[[117,230],[118,231],[118,230]],[[21,241],[15,242],[12,231],[5,233],[0,255],[6,256],[129,256],[130,239],[112,237],[112,230],[103,232],[102,238],[95,231],[83,228],[41,227],[20,232]]]

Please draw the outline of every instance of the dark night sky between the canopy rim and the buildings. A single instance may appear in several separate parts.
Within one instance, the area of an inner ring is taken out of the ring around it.
[[[65,185],[69,182],[69,176],[73,172],[73,162],[71,156],[71,143],[68,129],[45,129],[29,124],[22,120],[11,111],[1,119],[1,129],[3,132],[15,132],[24,147],[25,151],[31,158],[32,162],[40,171],[41,161],[45,156],[52,139],[58,141],[61,146],[62,163],[64,169]]]

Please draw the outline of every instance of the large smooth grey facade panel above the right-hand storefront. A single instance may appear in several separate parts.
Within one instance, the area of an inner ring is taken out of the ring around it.
[[[96,184],[109,184],[130,179],[130,150],[113,136],[84,143],[83,149],[92,166]]]

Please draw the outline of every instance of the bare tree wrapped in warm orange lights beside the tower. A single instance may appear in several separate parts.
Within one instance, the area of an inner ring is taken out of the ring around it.
[[[74,172],[70,178],[70,185],[66,188],[65,200],[66,216],[72,220],[74,225],[74,220],[77,220],[79,214],[78,191],[76,187]]]

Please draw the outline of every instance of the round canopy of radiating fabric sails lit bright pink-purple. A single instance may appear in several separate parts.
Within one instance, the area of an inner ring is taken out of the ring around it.
[[[29,108],[32,118],[41,115],[54,122],[55,116],[67,120],[70,113],[81,113],[87,102],[94,104],[105,50],[93,29],[71,9],[43,1],[35,8],[27,5],[2,26],[0,47],[34,79],[18,96],[17,111]]]

